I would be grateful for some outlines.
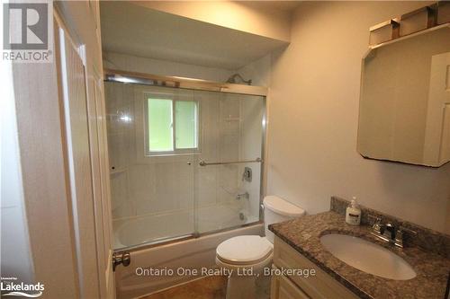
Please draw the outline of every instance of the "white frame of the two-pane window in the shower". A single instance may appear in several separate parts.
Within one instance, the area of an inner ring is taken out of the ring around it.
[[[148,99],[161,99],[172,101],[172,143],[174,149],[172,151],[150,151],[150,145],[148,142],[150,128],[148,124]],[[175,102],[176,101],[193,101],[196,104],[196,121],[195,121],[195,133],[196,133],[196,147],[193,148],[176,148],[176,130],[175,130]],[[201,153],[201,108],[200,101],[191,97],[180,96],[178,94],[161,94],[153,92],[144,92],[144,153],[148,157],[155,156],[170,156],[170,155],[183,155],[183,154],[200,154]]]

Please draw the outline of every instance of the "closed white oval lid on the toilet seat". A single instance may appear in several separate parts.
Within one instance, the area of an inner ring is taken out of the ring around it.
[[[258,235],[239,235],[221,242],[217,246],[219,259],[236,264],[257,262],[272,253],[273,245]]]

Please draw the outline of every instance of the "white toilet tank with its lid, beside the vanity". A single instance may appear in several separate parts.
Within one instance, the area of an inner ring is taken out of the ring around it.
[[[305,214],[302,207],[297,207],[289,201],[276,196],[266,196],[263,201],[264,204],[264,227],[266,231],[266,239],[274,243],[275,235],[269,231],[269,224],[276,224],[284,222],[295,217],[300,217]]]

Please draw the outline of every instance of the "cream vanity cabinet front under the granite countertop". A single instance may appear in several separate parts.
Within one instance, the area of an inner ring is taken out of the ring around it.
[[[274,269],[311,269],[315,275],[309,277],[273,275],[271,299],[356,299],[357,295],[330,277],[325,271],[306,259],[290,245],[275,237]]]

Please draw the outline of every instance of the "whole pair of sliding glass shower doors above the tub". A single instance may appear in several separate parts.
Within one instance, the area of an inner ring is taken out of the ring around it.
[[[104,88],[115,249],[259,221],[265,97]]]

